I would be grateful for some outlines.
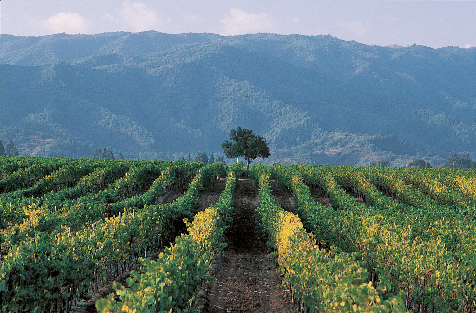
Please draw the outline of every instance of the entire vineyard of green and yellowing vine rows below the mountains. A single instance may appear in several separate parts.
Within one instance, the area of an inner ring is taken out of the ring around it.
[[[0,161],[2,312],[476,312],[476,170]]]

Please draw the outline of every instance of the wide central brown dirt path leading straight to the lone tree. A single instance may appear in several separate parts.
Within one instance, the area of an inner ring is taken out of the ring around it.
[[[253,179],[238,179],[228,247],[215,257],[214,280],[200,287],[192,312],[291,313],[289,293],[280,287],[276,265],[259,227],[258,189]]]

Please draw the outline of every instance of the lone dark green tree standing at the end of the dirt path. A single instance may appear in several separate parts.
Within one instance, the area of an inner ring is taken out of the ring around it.
[[[230,130],[230,140],[225,140],[221,147],[228,158],[242,156],[247,160],[245,175],[248,175],[249,164],[257,157],[269,157],[269,148],[265,138],[253,134],[253,130],[238,127]]]

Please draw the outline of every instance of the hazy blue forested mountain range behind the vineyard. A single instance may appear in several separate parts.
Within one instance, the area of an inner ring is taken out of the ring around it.
[[[176,159],[248,127],[265,163],[476,157],[476,49],[331,36],[1,35],[0,126],[20,155]]]

